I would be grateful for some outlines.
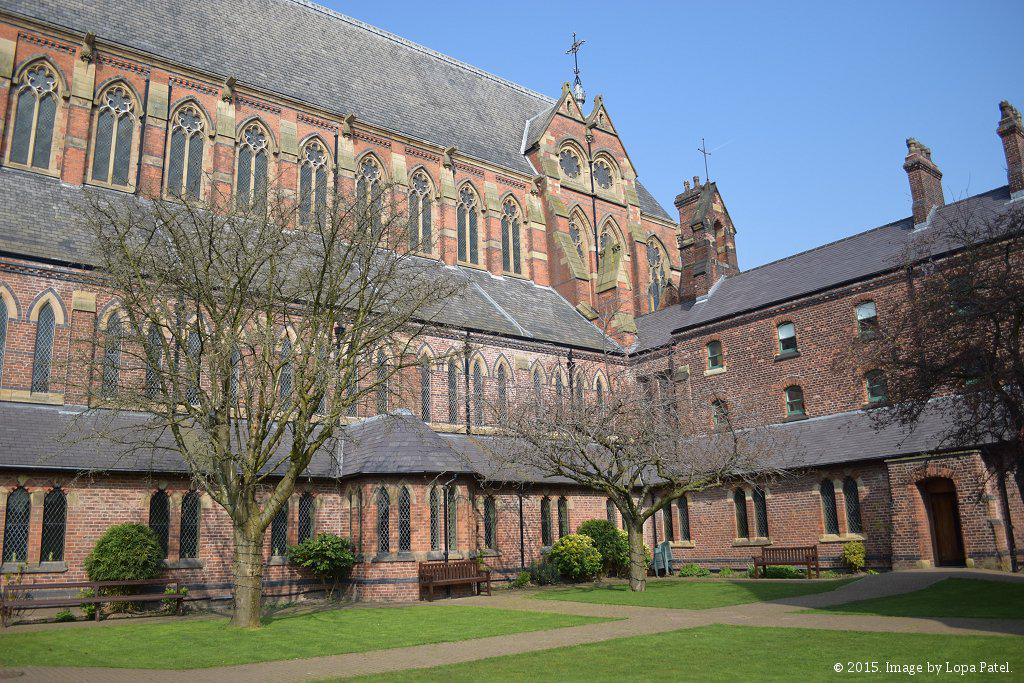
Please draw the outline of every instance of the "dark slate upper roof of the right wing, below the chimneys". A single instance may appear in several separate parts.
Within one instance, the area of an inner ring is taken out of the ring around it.
[[[919,236],[941,233],[951,221],[982,219],[1005,210],[1008,186],[937,208],[928,228],[914,231],[911,218],[859,232],[772,263],[744,270],[716,284],[709,296],[636,318],[634,350],[669,343],[674,331],[684,331],[723,317],[838,287],[895,267]],[[946,245],[934,245],[941,252]]]

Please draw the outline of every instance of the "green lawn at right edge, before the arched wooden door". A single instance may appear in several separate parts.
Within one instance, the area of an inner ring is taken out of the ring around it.
[[[815,609],[883,616],[1024,618],[1024,583],[944,579],[912,593]]]

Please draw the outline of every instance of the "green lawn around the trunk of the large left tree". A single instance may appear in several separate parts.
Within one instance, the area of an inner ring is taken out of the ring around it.
[[[280,616],[258,631],[224,620],[0,634],[0,666],[222,667],[543,631],[604,620],[490,607],[422,605]]]

